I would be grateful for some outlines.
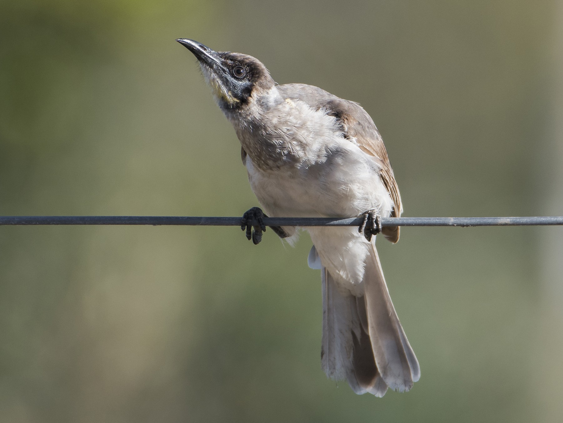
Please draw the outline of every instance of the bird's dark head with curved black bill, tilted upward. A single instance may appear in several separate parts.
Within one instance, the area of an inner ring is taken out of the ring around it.
[[[260,60],[230,51],[213,51],[193,39],[176,40],[198,59],[205,80],[223,109],[246,105],[252,96],[274,86],[274,79]]]

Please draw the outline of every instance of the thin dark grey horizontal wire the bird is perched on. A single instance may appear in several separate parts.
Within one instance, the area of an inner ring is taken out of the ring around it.
[[[359,226],[361,217],[264,217],[266,226]],[[209,216],[0,216],[2,225],[189,225],[240,226],[241,217]],[[256,223],[256,222],[254,222]],[[563,216],[382,217],[382,226],[563,225]]]

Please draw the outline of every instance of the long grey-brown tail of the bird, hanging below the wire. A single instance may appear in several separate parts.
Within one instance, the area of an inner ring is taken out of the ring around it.
[[[401,392],[412,388],[420,368],[391,302],[377,250],[373,244],[369,248],[363,297],[339,287],[321,266],[321,362],[327,376],[346,379],[356,394],[383,397],[387,386]]]

